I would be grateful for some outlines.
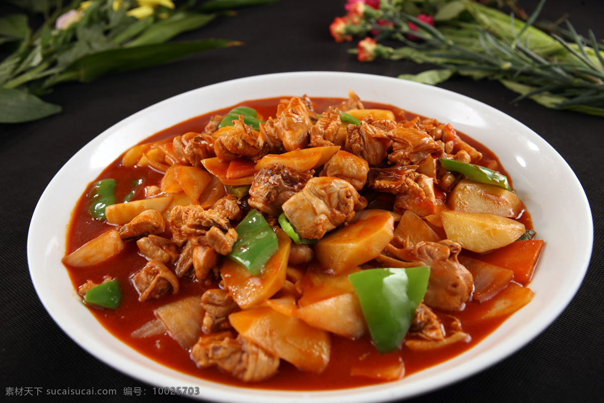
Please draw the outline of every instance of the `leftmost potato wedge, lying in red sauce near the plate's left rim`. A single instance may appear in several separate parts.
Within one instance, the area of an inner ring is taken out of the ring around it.
[[[63,263],[74,267],[92,266],[120,253],[125,245],[117,230],[110,230],[63,257]]]

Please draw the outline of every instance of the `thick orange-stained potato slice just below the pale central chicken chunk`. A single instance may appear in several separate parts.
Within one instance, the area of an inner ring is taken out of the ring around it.
[[[315,243],[315,256],[323,269],[337,276],[374,259],[394,237],[390,213],[360,220],[327,234]]]

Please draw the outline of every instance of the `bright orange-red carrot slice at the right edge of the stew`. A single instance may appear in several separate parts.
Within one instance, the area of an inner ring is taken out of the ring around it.
[[[475,259],[512,270],[514,281],[526,285],[535,274],[535,267],[544,243],[542,239],[516,240],[503,248],[477,256]]]

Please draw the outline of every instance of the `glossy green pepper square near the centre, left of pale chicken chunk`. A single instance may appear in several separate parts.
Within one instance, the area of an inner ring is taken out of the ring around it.
[[[253,208],[235,230],[237,240],[231,253],[226,256],[257,276],[279,248],[277,235],[262,213]]]

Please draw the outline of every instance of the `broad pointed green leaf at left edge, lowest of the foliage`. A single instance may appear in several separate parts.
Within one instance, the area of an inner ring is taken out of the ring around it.
[[[25,91],[0,88],[0,123],[38,120],[60,111],[59,105],[44,102]]]

